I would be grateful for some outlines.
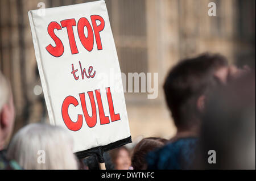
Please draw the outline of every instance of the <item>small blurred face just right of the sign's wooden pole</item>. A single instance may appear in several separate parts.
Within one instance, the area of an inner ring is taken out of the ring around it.
[[[115,170],[128,170],[131,166],[130,151],[125,146],[111,150],[110,157]]]

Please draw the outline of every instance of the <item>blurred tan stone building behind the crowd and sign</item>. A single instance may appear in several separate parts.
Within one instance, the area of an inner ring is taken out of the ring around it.
[[[9,78],[16,107],[16,132],[28,123],[47,121],[28,10],[90,2],[82,0],[1,0],[0,70]],[[125,93],[133,140],[170,138],[176,133],[164,102],[167,71],[181,58],[224,54],[238,66],[255,66],[254,0],[106,0],[123,73],[158,73],[159,94]],[[209,16],[209,2],[217,16]],[[38,7],[39,6],[39,7]]]

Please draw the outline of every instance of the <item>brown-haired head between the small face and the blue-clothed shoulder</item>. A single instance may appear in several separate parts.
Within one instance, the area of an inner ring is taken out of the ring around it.
[[[161,148],[167,143],[164,138],[148,137],[143,138],[135,146],[133,156],[131,157],[131,166],[134,170],[147,169],[146,155],[155,149]]]

